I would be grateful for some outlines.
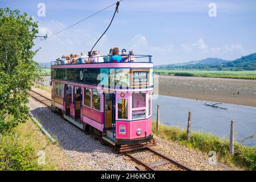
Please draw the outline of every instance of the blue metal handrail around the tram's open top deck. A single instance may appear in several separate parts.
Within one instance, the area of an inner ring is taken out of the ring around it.
[[[118,63],[152,63],[152,56],[151,55],[132,55],[132,58],[138,59],[138,58],[145,58],[147,57],[148,60],[145,61],[132,61],[130,55],[120,55],[120,56],[127,56],[127,60],[126,61],[121,61]],[[111,61],[104,61],[104,62],[99,62],[99,57],[108,57],[108,56],[95,56],[95,57],[89,57],[90,58],[97,58],[97,62],[96,63],[76,63],[76,64],[104,64],[104,63],[116,63],[116,62],[111,62]],[[74,64],[74,63],[68,63],[69,64]],[[56,61],[51,61],[51,65],[67,65],[67,64],[63,64],[61,60],[56,60]]]

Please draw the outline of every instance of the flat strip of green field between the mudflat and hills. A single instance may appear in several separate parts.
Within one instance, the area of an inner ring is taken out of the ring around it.
[[[155,69],[159,75],[238,78],[256,80],[256,71],[206,71],[206,70],[178,70],[178,69]]]

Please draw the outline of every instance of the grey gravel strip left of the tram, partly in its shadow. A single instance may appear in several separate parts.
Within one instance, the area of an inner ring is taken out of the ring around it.
[[[74,170],[136,170],[132,163],[91,135],[64,120],[50,109],[30,98],[31,113],[40,119],[44,128],[54,135],[72,162]]]

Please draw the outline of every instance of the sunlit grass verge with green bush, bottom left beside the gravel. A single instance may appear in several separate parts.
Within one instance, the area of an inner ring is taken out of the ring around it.
[[[40,158],[44,154],[45,160]],[[60,147],[53,145],[31,120],[0,135],[0,171],[71,169],[65,162]]]

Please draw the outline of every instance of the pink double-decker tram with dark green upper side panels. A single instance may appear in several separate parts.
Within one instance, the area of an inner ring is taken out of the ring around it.
[[[107,142],[139,144],[152,138],[152,56],[121,63],[51,63],[52,105],[82,130]],[[145,61],[146,60],[146,61]]]

